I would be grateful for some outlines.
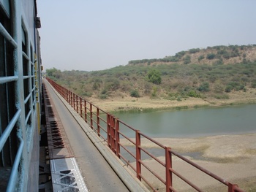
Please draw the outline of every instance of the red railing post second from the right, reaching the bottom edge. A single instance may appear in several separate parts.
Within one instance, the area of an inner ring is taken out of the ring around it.
[[[165,177],[166,177],[166,192],[170,192],[170,187],[173,187],[173,172],[172,168],[172,154],[170,152],[170,147],[165,147]]]

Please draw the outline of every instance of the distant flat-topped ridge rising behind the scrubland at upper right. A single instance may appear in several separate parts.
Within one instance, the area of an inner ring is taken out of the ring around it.
[[[153,58],[129,61],[128,65],[156,64],[236,64],[256,61],[256,45],[214,46],[206,49],[180,51],[165,58]]]

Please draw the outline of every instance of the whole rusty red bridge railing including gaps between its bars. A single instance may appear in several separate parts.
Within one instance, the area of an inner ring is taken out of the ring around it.
[[[216,181],[216,184],[214,184],[216,188],[222,185],[222,188],[225,187],[228,192],[243,191],[241,188],[238,188],[238,185],[227,182],[227,180],[179,155],[170,147],[166,147],[140,133],[139,130],[132,128],[114,115],[101,110],[53,80],[49,78],[47,80],[72,108],[78,112],[80,117],[89,124],[91,129],[105,141],[110,150],[129,167],[131,172],[134,172],[138,180],[148,185],[148,188],[151,188],[153,191],[181,191],[180,185],[184,186],[185,184],[190,188],[194,188],[195,191],[203,191],[198,186],[197,180],[193,181],[193,183],[191,181],[201,174],[200,180],[210,177]],[[146,146],[148,142],[151,143],[150,147]],[[157,153],[157,155],[154,153]],[[184,166],[191,166],[188,169],[193,170],[193,177],[187,178],[186,173],[181,174],[178,172],[178,166],[177,169],[174,169],[177,161],[184,162]],[[151,162],[154,162],[154,166],[152,166]]]

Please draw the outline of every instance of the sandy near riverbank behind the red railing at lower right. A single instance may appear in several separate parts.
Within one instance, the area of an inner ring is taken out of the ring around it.
[[[162,145],[171,147],[174,151],[230,183],[238,184],[244,191],[256,191],[256,134],[184,139],[155,138],[155,140]],[[127,145],[125,141],[121,142]],[[141,140],[141,145],[148,148],[155,147],[146,139]],[[165,157],[159,156],[159,158],[165,162]],[[161,170],[155,161],[151,159],[146,161],[147,165],[154,167],[156,171]],[[225,189],[227,189],[206,175],[202,176],[200,172],[192,169],[189,164],[184,164],[184,161],[175,156],[173,156],[173,168],[205,191],[226,191]],[[164,175],[165,173],[159,174]],[[146,178],[154,186],[159,185],[150,174],[146,175]],[[189,191],[187,186],[181,183],[181,180],[177,180],[176,177],[173,179],[178,191]]]

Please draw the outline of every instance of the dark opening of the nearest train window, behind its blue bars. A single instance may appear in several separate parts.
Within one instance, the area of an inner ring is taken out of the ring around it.
[[[12,18],[10,18],[10,4],[8,0],[1,0],[0,2],[0,23],[1,28],[12,36]],[[0,33],[0,136],[4,130],[10,125],[10,121],[17,112],[15,102],[15,80],[8,80],[7,77],[15,76],[15,67],[13,54],[14,47],[10,43],[9,39],[4,36],[4,33]],[[0,169],[6,170],[11,167],[15,160],[15,154],[17,153],[17,126],[14,128],[2,147],[0,153]],[[5,168],[3,168],[5,167]],[[7,173],[4,173],[7,174]],[[6,177],[1,177],[1,181],[5,182]],[[1,191],[1,190],[0,190]]]

